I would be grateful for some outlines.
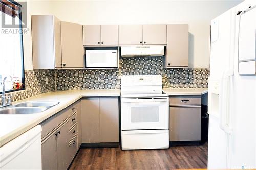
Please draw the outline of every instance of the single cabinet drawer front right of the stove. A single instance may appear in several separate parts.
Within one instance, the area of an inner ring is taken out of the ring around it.
[[[175,96],[169,99],[170,105],[201,105],[201,96]]]

